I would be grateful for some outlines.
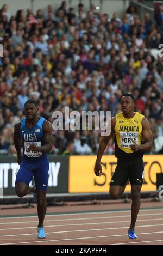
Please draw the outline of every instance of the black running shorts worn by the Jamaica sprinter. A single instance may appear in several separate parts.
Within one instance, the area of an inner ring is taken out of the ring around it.
[[[131,185],[142,185],[143,175],[144,165],[142,159],[133,163],[122,162],[118,159],[115,172],[111,177],[110,186],[124,187],[128,179]]]

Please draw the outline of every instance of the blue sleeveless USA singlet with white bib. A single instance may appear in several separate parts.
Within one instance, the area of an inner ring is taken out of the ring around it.
[[[23,141],[23,157],[27,160],[39,160],[40,158],[47,159],[47,154],[42,154],[40,151],[33,151],[29,149],[30,144],[35,144],[39,147],[42,145],[44,121],[45,118],[40,117],[32,129],[29,129],[29,127],[26,125],[26,118],[21,120],[20,136]]]

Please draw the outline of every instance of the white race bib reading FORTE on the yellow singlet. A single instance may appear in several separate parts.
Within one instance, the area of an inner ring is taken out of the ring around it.
[[[130,148],[133,145],[133,141],[138,144],[138,135],[139,133],[136,132],[120,132],[121,147]]]

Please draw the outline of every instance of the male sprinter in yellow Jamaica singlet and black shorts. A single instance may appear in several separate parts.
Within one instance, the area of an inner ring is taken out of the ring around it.
[[[122,112],[111,118],[111,132],[103,137],[99,145],[95,174],[100,176],[101,157],[112,135],[115,134],[115,156],[117,166],[110,182],[110,197],[117,199],[123,193],[128,178],[131,184],[131,223],[128,230],[129,239],[136,239],[135,222],[140,209],[140,191],[143,183],[143,152],[152,148],[153,138],[148,120],[134,112],[134,97],[124,94],[121,97]],[[143,144],[142,144],[143,139]]]

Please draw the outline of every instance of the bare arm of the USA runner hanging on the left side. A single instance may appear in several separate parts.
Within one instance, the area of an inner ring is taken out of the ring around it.
[[[17,152],[17,163],[21,164],[21,136],[20,136],[20,123],[18,121],[14,126],[14,145]]]

